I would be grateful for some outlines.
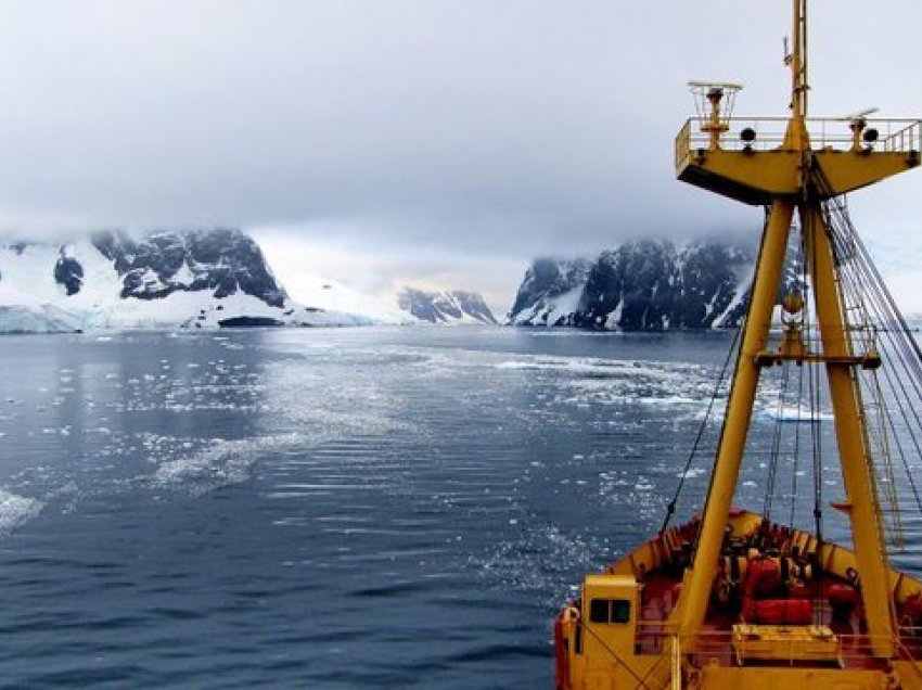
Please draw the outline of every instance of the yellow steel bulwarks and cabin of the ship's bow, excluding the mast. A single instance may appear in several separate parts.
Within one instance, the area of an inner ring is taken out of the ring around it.
[[[757,513],[734,511],[728,524],[731,534],[742,537],[758,528],[763,518]],[[819,545],[808,532],[795,531],[792,545],[802,552],[816,550],[823,571],[843,578],[849,568],[858,566],[855,553],[835,544]],[[567,690],[589,688],[905,688],[922,690],[922,669],[917,663],[905,660],[905,651],[882,663],[874,663],[869,649],[873,640],[868,635],[835,635],[834,640],[820,636],[817,642],[808,641],[798,649],[792,638],[810,634],[812,626],[756,626],[765,632],[761,642],[772,636],[779,638],[774,647],[743,646],[742,661],[752,660],[752,666],[740,666],[738,659],[728,657],[720,649],[733,649],[733,631],[700,631],[680,636],[671,624],[662,627],[662,646],[658,651],[643,651],[632,647],[637,628],[616,626],[599,632],[599,626],[584,625],[582,616],[592,597],[633,598],[639,595],[635,586],[638,572],[652,572],[663,565],[662,551],[651,539],[619,559],[606,570],[607,575],[590,575],[580,606],[568,606],[561,619],[563,637],[567,640]],[[905,602],[922,592],[918,579],[887,570],[886,582],[898,602]],[[642,601],[642,596],[641,596]],[[640,625],[638,622],[637,625]],[[587,644],[592,638],[594,643]],[[648,632],[649,639],[649,632]],[[604,644],[601,643],[604,641]],[[718,642],[718,643],[715,643]],[[836,654],[831,653],[832,646]],[[737,644],[739,647],[739,643]],[[715,650],[717,655],[715,656]],[[734,650],[735,651],[735,650]],[[807,657],[810,659],[807,659]],[[835,659],[833,659],[833,656]],[[694,661],[690,663],[690,659]],[[838,667],[838,663],[845,667]],[[870,664],[870,665],[868,665]]]

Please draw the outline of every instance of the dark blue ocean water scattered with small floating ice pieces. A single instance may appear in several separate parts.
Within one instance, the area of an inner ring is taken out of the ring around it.
[[[730,340],[0,338],[0,686],[551,687],[555,610],[658,528]],[[756,509],[791,414],[772,386],[741,477]],[[785,462],[778,486],[810,472]],[[809,515],[794,485],[779,519]]]

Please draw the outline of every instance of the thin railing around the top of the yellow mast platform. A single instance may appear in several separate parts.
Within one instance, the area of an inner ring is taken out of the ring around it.
[[[862,146],[891,153],[919,152],[922,149],[922,120],[897,118],[863,122],[866,131],[869,129],[878,131],[878,140],[873,143],[862,143]],[[677,168],[681,168],[688,162],[692,152],[709,148],[710,132],[701,129],[701,126],[706,123],[706,118],[691,117],[679,131],[676,137]],[[784,142],[787,123],[787,118],[784,117],[732,117],[727,120],[728,131],[720,136],[720,149],[723,151],[778,150]],[[843,118],[808,118],[807,131],[810,135],[811,148],[815,151],[851,150],[854,137],[849,125],[849,120]],[[743,137],[744,131],[747,131],[750,136]]]

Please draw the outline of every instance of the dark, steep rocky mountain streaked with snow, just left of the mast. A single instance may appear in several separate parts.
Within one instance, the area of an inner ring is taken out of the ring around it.
[[[754,253],[723,242],[644,240],[594,260],[537,259],[509,323],[606,330],[728,328],[744,316]]]

